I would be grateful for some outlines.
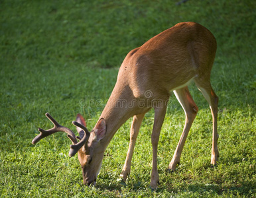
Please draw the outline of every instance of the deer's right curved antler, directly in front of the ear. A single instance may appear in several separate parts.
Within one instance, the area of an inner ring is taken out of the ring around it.
[[[80,140],[79,143],[77,143],[76,145],[70,145],[70,152],[68,153],[68,155],[70,157],[74,156],[76,154],[76,152],[78,152],[78,150],[80,150],[84,145],[86,145],[86,143],[88,143],[88,139],[90,137],[90,132],[88,131],[88,129],[86,129],[86,127],[84,125],[78,123],[77,121],[72,121],[72,123],[76,127],[80,127],[84,131],[85,135]]]

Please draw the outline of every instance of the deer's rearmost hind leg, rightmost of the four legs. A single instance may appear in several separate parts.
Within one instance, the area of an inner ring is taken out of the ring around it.
[[[213,123],[213,133],[212,133],[212,157],[211,164],[215,165],[218,161],[219,151],[218,151],[218,133],[217,133],[217,121],[218,121],[218,101],[219,98],[212,89],[210,80],[202,81],[202,79],[194,79],[196,86],[204,95],[207,102],[210,105],[212,112],[212,123]]]

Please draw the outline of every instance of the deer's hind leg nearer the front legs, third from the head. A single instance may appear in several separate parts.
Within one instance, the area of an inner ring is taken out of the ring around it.
[[[196,106],[196,103],[190,95],[188,86],[185,86],[184,88],[180,88],[178,90],[174,90],[174,94],[185,112],[186,120],[182,135],[180,137],[180,141],[178,142],[172,160],[170,161],[170,164],[168,166],[168,170],[172,171],[175,170],[176,165],[180,162],[180,155],[186,142],[186,137],[188,137],[188,132],[190,131],[192,123],[198,112],[198,107]]]

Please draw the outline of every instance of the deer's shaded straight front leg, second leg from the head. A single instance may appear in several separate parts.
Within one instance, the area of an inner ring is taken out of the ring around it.
[[[157,183],[159,183],[159,173],[157,171],[157,147],[159,144],[159,135],[166,114],[166,104],[163,108],[155,108],[155,117],[153,132],[151,135],[151,143],[153,148],[153,160],[152,160],[152,174],[151,174],[151,188],[156,189]]]

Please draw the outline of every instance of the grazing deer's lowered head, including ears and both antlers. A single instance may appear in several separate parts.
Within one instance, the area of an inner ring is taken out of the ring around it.
[[[84,118],[78,114],[76,121],[72,121],[79,133],[79,136],[76,136],[71,129],[60,125],[50,114],[46,113],[45,116],[52,121],[54,127],[48,130],[38,128],[40,134],[34,137],[32,144],[34,145],[44,137],[59,131],[67,133],[68,138],[72,141],[68,155],[72,157],[78,152],[78,160],[82,167],[84,184],[95,184],[105,150],[101,148],[100,143],[107,131],[105,120],[103,118],[99,119],[96,127],[89,132],[86,128]]]

